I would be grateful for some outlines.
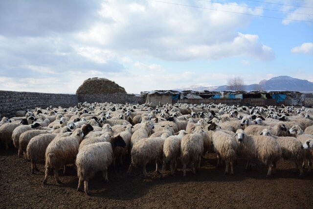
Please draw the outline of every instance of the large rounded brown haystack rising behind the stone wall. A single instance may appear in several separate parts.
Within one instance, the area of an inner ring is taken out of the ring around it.
[[[76,91],[76,94],[103,93],[126,93],[126,91],[123,87],[120,87],[114,81],[98,77],[88,78]]]

